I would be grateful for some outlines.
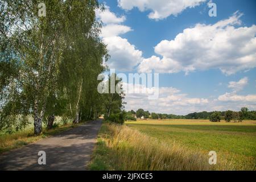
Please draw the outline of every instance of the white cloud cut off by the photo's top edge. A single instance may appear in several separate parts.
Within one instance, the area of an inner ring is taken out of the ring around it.
[[[200,5],[206,0],[118,0],[118,6],[125,10],[138,7],[140,11],[151,10],[148,18],[163,19],[177,15],[187,8]]]

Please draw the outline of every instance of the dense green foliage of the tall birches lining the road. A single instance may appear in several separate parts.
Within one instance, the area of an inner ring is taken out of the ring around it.
[[[47,15],[39,17],[40,1],[1,3],[6,6],[0,6],[0,130],[21,130],[32,115],[40,134],[51,115],[65,124],[95,119],[107,109],[121,111],[123,94],[97,92],[97,76],[108,69],[103,62],[109,58],[95,14],[103,5],[46,1]]]

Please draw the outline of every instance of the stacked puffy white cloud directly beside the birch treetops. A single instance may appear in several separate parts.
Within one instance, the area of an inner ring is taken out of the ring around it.
[[[118,17],[106,5],[104,11],[96,11],[96,16],[104,23],[101,36],[111,55],[108,61],[109,68],[118,71],[132,71],[141,63],[142,51],[139,51],[127,39],[120,37],[120,35],[132,31],[131,27],[122,24],[126,20],[125,16]]]

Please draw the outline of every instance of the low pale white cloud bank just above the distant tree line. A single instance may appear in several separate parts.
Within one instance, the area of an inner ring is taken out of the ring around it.
[[[238,111],[244,106],[250,110],[256,109],[256,95],[240,96],[236,93],[226,93],[217,99],[214,99],[214,97],[198,98],[189,97],[188,94],[182,93],[181,90],[173,87],[160,87],[159,98],[148,100],[148,96],[154,94],[154,87],[146,88],[144,85],[135,84],[135,93],[131,93],[127,92],[130,85],[123,83],[123,89],[126,90],[126,110],[142,108],[155,113],[185,115],[200,111]]]

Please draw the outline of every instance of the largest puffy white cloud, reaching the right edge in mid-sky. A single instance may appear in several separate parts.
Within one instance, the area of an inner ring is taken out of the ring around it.
[[[216,24],[196,24],[178,34],[174,40],[163,40],[155,47],[162,56],[144,59],[139,72],[189,73],[196,70],[220,69],[226,75],[256,67],[256,26],[240,25],[236,12]]]

